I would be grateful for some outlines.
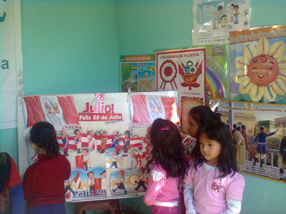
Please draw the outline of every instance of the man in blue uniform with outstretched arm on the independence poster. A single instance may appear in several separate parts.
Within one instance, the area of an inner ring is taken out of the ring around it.
[[[255,150],[257,151],[257,153],[255,154],[254,163],[252,166],[253,167],[255,166],[255,163],[256,163],[257,159],[259,158],[260,159],[260,169],[263,169],[262,168],[262,165],[264,162],[263,160],[266,157],[266,138],[275,134],[279,129],[276,129],[275,132],[271,132],[271,133],[264,132],[264,129],[265,129],[264,126],[260,126],[259,129],[260,129],[260,132],[255,134],[255,137],[252,141],[252,143],[254,144],[255,141],[257,140],[257,144],[255,145]]]

